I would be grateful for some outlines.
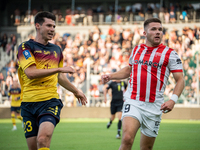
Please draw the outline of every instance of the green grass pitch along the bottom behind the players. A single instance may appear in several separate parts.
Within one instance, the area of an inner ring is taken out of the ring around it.
[[[108,119],[61,119],[55,128],[51,150],[118,150],[117,120],[106,128]],[[0,150],[27,150],[20,121],[11,131],[11,119],[0,119]],[[139,150],[140,132],[133,148]],[[200,150],[200,121],[162,120],[154,150]]]

